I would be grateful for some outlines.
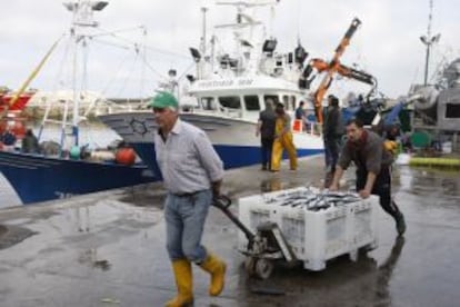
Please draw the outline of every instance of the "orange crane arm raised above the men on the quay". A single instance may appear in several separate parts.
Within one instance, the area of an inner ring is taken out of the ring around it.
[[[361,24],[361,21],[358,18],[354,18],[350,24],[350,28],[347,30],[344,37],[340,41],[339,46],[336,48],[336,53],[330,62],[327,62],[321,59],[312,59],[309,62],[309,67],[306,68],[304,77],[311,73],[312,68],[316,68],[318,72],[326,71],[326,76],[319,85],[317,91],[313,96],[313,106],[314,112],[319,123],[322,123],[322,99],[324,98],[326,92],[332,83],[334,73],[340,73],[341,76],[366,82],[371,86],[376,86],[376,79],[367,72],[356,70],[353,68],[343,66],[340,63],[339,59],[343,55],[344,49],[350,44],[350,39],[354,34],[358,27]],[[311,80],[310,80],[311,82]]]

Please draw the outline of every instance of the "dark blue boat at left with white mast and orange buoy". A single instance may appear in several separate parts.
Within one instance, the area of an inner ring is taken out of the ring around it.
[[[107,2],[77,1],[66,3],[72,12],[71,30],[68,41],[77,55],[83,52],[91,41],[90,31],[98,27],[93,20],[93,12],[103,9]],[[84,57],[82,57],[84,58]],[[86,70],[86,63],[81,63]],[[67,198],[76,195],[96,192],[106,189],[121,188],[158,180],[144,164],[136,160],[132,148],[119,147],[116,152],[110,150],[84,150],[86,145],[80,142],[80,126],[84,121],[79,113],[79,100],[84,96],[84,80],[79,80],[77,68],[71,76],[73,97],[64,102],[62,120],[47,118],[49,111],[38,129],[38,141],[44,138],[49,125],[59,127],[59,139],[56,142],[41,143],[41,150],[24,152],[14,143],[17,136],[12,133],[8,143],[0,150],[0,171],[10,182],[24,205],[38,201]],[[53,101],[48,101],[50,108]],[[60,101],[62,102],[62,101]],[[72,109],[72,120],[68,115]],[[54,129],[56,130],[56,129]],[[8,131],[11,133],[11,131]],[[24,142],[24,140],[22,140]]]

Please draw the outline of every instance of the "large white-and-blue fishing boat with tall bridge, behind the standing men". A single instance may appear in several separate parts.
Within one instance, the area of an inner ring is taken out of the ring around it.
[[[176,88],[174,93],[180,97],[180,118],[208,133],[229,169],[260,162],[256,126],[267,99],[283,102],[286,110],[293,115],[299,102],[308,98],[307,89],[299,87],[308,55],[300,43],[290,52],[277,52],[277,40],[267,34],[267,24],[253,17],[258,9],[274,9],[277,1],[223,1],[217,4],[234,7],[237,20],[216,26],[209,48],[203,27],[200,50],[190,48],[197,63],[196,76],[187,76],[188,89]],[[207,10],[201,10],[203,24]],[[227,47],[226,33],[232,41]],[[99,118],[132,145],[152,170],[158,170],[153,143],[157,125],[151,111],[114,112]],[[318,133],[303,131],[299,123],[293,128],[299,157],[323,152]]]

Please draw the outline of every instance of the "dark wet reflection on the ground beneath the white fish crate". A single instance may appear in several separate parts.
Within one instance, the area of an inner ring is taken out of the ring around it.
[[[270,306],[298,306],[297,303],[308,293],[311,306],[336,306],[337,301],[347,301],[351,294],[356,299],[353,306],[389,306],[390,281],[403,247],[404,238],[397,237],[380,264],[366,251],[360,251],[357,261],[343,255],[328,261],[328,269],[322,271],[309,271],[301,265],[289,267],[279,264],[273,275],[264,280],[248,278],[241,265],[239,299],[257,298],[260,306],[268,300]]]

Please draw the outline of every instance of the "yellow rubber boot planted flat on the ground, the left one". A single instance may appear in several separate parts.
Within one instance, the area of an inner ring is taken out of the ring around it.
[[[192,269],[189,260],[180,259],[172,261],[178,295],[169,300],[167,307],[186,307],[193,305],[193,280]]]

